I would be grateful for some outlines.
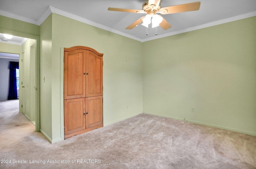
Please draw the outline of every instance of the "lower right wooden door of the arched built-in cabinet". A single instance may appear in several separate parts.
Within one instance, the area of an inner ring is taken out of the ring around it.
[[[86,129],[101,124],[103,124],[102,96],[86,98]]]

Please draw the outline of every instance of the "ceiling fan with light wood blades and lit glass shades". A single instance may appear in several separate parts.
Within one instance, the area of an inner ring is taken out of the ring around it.
[[[142,4],[142,10],[132,10],[132,9],[122,9],[122,8],[108,8],[110,11],[119,11],[119,12],[132,12],[139,14],[146,14],[140,19],[136,20],[126,29],[133,29],[138,26],[141,22],[143,26],[148,28],[148,25],[152,22],[152,28],[161,26],[164,30],[171,28],[172,26],[160,15],[158,14],[174,14],[179,12],[188,12],[199,10],[200,2],[193,2],[188,4],[181,4],[176,6],[168,6],[161,8],[161,0],[148,0]],[[151,21],[152,18],[152,21]]]

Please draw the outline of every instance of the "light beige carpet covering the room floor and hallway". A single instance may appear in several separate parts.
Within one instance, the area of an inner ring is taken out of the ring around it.
[[[15,102],[0,102],[0,169],[256,168],[256,137],[148,114],[51,144]]]

